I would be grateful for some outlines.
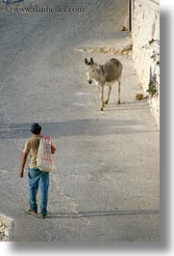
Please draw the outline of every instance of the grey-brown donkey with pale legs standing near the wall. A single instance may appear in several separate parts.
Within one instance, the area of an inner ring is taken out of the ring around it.
[[[104,110],[105,104],[108,104],[110,100],[110,95],[112,92],[112,84],[118,81],[118,104],[120,104],[120,84],[121,84],[121,75],[122,75],[122,64],[112,58],[104,65],[98,65],[93,62],[93,59],[90,58],[90,61],[85,59],[85,64],[87,65],[87,81],[89,84],[92,83],[92,80],[95,81],[98,86],[100,93],[100,110]],[[104,102],[104,86],[108,86],[108,98]]]

